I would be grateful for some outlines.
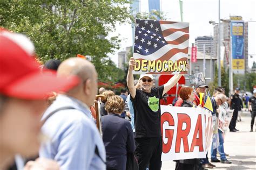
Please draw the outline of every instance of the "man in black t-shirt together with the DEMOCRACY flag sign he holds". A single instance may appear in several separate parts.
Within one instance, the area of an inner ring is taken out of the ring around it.
[[[187,74],[188,23],[136,19],[133,58],[129,62],[127,86],[134,105],[136,156],[139,169],[160,170],[162,138],[160,99]],[[133,73],[141,74],[140,89]],[[176,74],[160,87],[151,74]]]

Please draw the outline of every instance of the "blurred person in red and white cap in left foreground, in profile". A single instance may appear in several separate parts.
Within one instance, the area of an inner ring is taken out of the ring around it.
[[[0,169],[12,164],[15,154],[38,153],[45,96],[69,90],[78,82],[77,77],[68,80],[54,73],[42,74],[32,42],[0,28]]]

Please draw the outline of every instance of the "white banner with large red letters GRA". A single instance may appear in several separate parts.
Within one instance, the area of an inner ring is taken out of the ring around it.
[[[211,112],[161,105],[161,160],[205,158],[213,133]]]

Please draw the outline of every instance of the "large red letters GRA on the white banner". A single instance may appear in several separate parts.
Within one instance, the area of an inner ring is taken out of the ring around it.
[[[198,146],[199,151],[203,152],[204,151],[203,128],[201,123],[201,115],[198,116],[196,128],[194,129],[194,133],[193,133],[193,140],[190,147],[188,146],[188,140],[187,140],[187,136],[191,131],[190,116],[188,116],[187,114],[177,114],[177,116],[178,116],[178,126],[177,126],[175,152],[176,153],[180,152],[181,139],[183,139],[184,152],[193,152],[195,146]],[[163,140],[163,152],[168,153],[172,147],[174,130],[164,129],[163,128],[164,122],[168,122],[169,126],[174,126],[174,119],[173,119],[173,116],[170,114],[170,112],[164,112],[164,114],[161,115],[161,133],[163,136],[164,134],[163,131],[165,131],[165,138],[168,139],[166,144],[164,143],[164,140]],[[186,124],[185,129],[182,129],[183,123]],[[198,134],[198,138],[197,138],[197,134]]]

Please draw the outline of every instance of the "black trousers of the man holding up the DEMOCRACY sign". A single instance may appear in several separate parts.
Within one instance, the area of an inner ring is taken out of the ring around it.
[[[145,170],[149,165],[149,169],[160,170],[163,150],[162,138],[135,138],[135,141],[135,154],[139,162],[139,169]]]

